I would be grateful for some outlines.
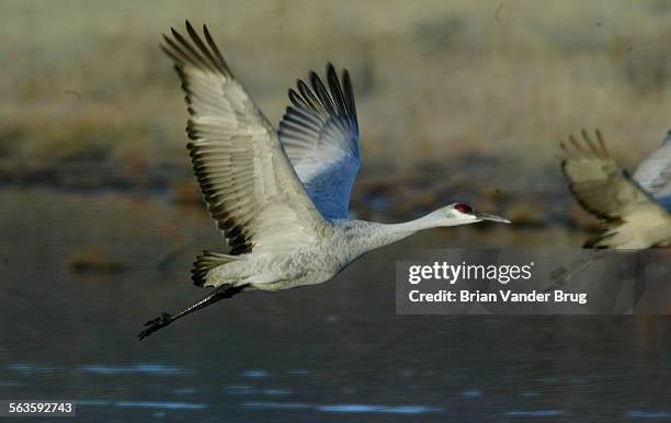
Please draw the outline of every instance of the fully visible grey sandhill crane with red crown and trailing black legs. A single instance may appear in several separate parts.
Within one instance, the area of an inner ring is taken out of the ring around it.
[[[204,39],[171,30],[162,49],[174,61],[189,105],[193,170],[227,254],[204,251],[193,282],[214,290],[174,315],[148,321],[143,339],[177,319],[246,289],[320,284],[362,254],[419,230],[509,220],[455,203],[416,220],[385,225],[348,219],[359,171],[359,124],[350,76],[327,67],[289,90],[276,130],[232,76],[207,27]]]

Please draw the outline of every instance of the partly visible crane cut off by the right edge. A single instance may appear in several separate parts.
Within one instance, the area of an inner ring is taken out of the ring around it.
[[[598,142],[582,132],[562,142],[561,169],[580,205],[606,229],[585,248],[645,249],[671,243],[671,133],[634,176],[619,169],[596,129]]]

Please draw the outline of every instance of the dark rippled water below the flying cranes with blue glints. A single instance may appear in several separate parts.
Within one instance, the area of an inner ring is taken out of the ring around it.
[[[671,420],[667,318],[395,315],[408,251],[579,242],[560,228],[427,232],[138,342],[204,294],[189,266],[213,227],[160,195],[0,191],[0,399],[73,399],[87,422]]]

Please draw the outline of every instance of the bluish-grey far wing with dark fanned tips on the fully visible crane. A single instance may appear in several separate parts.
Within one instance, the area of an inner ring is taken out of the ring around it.
[[[297,81],[292,105],[280,123],[280,139],[308,195],[328,219],[348,216],[352,184],[359,172],[359,124],[346,70],[342,84],[331,64],[328,89],[317,73],[310,85]]]

